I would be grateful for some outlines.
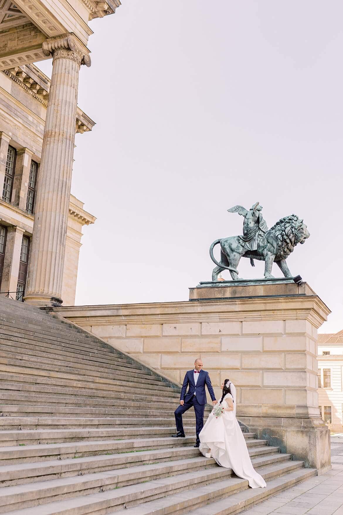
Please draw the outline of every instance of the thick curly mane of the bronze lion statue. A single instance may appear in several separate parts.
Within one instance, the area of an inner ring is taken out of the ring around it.
[[[269,229],[274,232],[278,244],[275,261],[286,259],[293,252],[294,247],[302,240],[301,226],[302,220],[293,214],[281,218]]]

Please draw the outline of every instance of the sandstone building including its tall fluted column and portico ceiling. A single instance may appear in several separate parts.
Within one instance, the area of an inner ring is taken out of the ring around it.
[[[69,208],[75,132],[94,125],[77,106],[79,72],[82,65],[91,66],[89,22],[114,14],[119,6],[119,0],[0,1],[0,187],[4,185],[6,204],[2,207],[13,205],[16,216],[23,217],[22,225],[7,222],[16,229],[9,231],[6,220],[2,224],[2,289],[24,286],[24,301],[30,304],[63,302],[67,235],[74,225]],[[33,65],[44,59],[52,59],[51,81]],[[33,204],[32,229],[27,228],[25,213],[31,216]],[[77,204],[73,209],[78,218]],[[82,208],[80,219],[91,222]],[[30,242],[24,239],[23,244],[22,236],[29,238],[30,231]],[[8,249],[16,261],[10,260]],[[19,268],[25,269],[20,280]]]

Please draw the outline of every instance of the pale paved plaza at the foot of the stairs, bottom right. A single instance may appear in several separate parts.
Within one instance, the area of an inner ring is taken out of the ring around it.
[[[271,497],[245,513],[343,515],[343,434],[331,438],[332,470]]]

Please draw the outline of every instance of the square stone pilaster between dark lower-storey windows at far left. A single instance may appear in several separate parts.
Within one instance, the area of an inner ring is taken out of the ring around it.
[[[3,277],[1,291],[10,291],[10,296],[15,299],[16,285],[18,282],[20,254],[22,251],[24,229],[20,227],[8,227],[6,237],[6,249],[4,256]],[[5,293],[3,295],[5,295]]]

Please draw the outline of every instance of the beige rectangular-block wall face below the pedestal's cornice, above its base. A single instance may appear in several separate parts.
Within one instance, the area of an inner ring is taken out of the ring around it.
[[[98,324],[82,327],[182,383],[201,357],[216,397],[228,377],[237,387],[239,414],[294,413],[318,406],[317,328],[308,320]]]

